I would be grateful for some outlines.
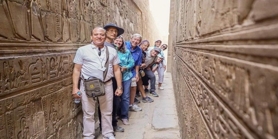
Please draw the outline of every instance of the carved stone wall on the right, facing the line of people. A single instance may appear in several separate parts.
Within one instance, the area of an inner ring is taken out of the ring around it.
[[[277,8],[171,0],[168,65],[182,138],[278,138]]]

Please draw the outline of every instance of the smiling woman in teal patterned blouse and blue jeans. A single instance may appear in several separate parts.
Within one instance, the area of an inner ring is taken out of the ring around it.
[[[128,108],[129,108],[129,95],[130,95],[130,86],[131,86],[131,78],[132,78],[132,72],[130,68],[134,67],[134,60],[132,58],[131,52],[125,48],[124,38],[121,35],[116,37],[113,43],[117,45],[118,57],[121,61],[120,68],[122,72],[122,87],[123,87],[122,95],[114,96],[114,97],[120,97],[120,108],[121,108],[120,118],[123,121],[123,124],[129,125]]]

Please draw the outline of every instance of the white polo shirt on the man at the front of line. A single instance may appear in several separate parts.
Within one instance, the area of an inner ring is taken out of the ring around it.
[[[118,53],[115,48],[107,48],[109,50],[109,66],[104,81],[114,77],[113,65],[120,63],[120,59],[118,58]],[[85,79],[95,76],[96,78],[103,80],[103,71],[98,69],[100,67],[100,61],[102,61],[102,66],[104,67],[106,62],[106,47],[101,49],[101,54],[98,56],[98,47],[93,44],[88,44],[78,48],[73,60],[74,63],[82,65],[81,74]]]

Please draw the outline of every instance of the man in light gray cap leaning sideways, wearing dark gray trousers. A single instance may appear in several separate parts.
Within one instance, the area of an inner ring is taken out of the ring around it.
[[[150,95],[151,96],[158,96],[158,94],[156,94],[156,76],[154,75],[154,73],[151,71],[151,66],[153,65],[153,63],[155,63],[157,61],[157,55],[161,52],[161,49],[159,47],[155,47],[152,50],[147,51],[147,56],[145,59],[145,75],[142,77],[142,81],[146,82],[149,79],[151,80],[151,89],[150,89]]]

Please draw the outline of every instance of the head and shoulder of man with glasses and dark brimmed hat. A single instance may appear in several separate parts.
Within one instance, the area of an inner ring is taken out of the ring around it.
[[[113,40],[116,37],[118,37],[121,34],[123,34],[125,32],[125,30],[122,29],[122,28],[119,28],[118,25],[116,25],[114,23],[108,23],[103,28],[106,30],[106,36],[107,36],[104,45],[110,46],[110,47],[113,47],[113,48],[116,49],[117,45],[115,45],[113,43]]]

